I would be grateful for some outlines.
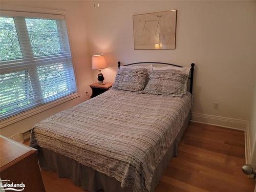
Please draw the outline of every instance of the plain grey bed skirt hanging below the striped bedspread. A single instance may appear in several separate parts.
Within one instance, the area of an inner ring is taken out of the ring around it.
[[[154,191],[158,185],[164,169],[167,167],[170,159],[178,155],[178,145],[190,119],[191,113],[189,112],[179,134],[155,169],[151,191]],[[38,147],[38,157],[39,165],[42,169],[53,170],[58,174],[59,178],[68,178],[73,181],[74,185],[81,186],[81,188],[84,190],[88,190],[90,192],[102,190],[105,192],[133,191],[131,187],[121,187],[121,183],[114,177],[100,173],[91,167],[84,166],[69,157],[52,152],[46,148]]]

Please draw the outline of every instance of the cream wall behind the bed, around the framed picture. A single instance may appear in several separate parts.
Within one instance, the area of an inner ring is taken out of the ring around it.
[[[193,112],[247,120],[256,70],[256,2],[96,1],[86,2],[90,54],[106,55],[106,81],[117,61],[196,63]],[[133,15],[177,9],[175,50],[134,50]],[[95,72],[96,75],[97,72]],[[219,102],[219,110],[213,103]]]

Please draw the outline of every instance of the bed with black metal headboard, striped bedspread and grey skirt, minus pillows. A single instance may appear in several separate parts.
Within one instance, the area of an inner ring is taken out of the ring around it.
[[[182,97],[112,89],[37,123],[40,167],[88,191],[154,191],[191,119],[194,66]]]

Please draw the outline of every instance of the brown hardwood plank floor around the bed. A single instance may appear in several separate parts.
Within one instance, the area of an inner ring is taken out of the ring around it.
[[[190,122],[155,191],[253,191],[244,164],[243,131]],[[84,191],[54,172],[41,174],[47,192]]]

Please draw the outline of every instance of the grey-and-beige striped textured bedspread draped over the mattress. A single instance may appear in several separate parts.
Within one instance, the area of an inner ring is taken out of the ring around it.
[[[36,124],[30,146],[68,156],[116,178],[122,187],[147,191],[190,108],[190,93],[109,90]]]

